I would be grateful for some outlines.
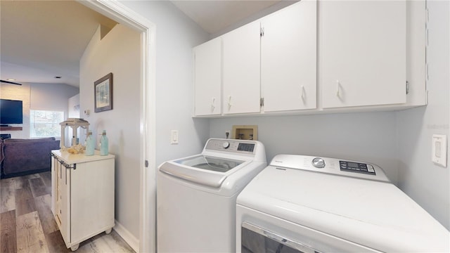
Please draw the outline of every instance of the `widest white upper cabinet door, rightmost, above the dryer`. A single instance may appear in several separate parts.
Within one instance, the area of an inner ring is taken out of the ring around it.
[[[405,1],[319,1],[323,108],[406,102]]]

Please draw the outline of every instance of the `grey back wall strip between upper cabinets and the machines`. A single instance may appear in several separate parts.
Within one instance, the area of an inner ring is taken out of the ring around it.
[[[397,183],[394,112],[211,119],[210,135],[224,138],[233,125],[258,125],[267,162],[278,154],[314,155],[371,162]],[[231,133],[231,131],[230,131]]]

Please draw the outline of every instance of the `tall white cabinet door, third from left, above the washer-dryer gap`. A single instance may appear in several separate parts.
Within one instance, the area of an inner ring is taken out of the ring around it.
[[[316,108],[316,1],[300,1],[263,18],[264,111]]]

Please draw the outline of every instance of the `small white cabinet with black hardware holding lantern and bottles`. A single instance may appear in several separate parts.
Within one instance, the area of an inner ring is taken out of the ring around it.
[[[51,211],[66,247],[114,226],[114,155],[51,151]]]

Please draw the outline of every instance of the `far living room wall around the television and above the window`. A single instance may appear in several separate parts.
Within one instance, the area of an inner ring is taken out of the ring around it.
[[[23,101],[22,131],[0,131],[11,134],[11,138],[30,138],[30,110],[62,110],[68,115],[68,99],[79,93],[79,89],[67,84],[23,83],[22,85],[1,84],[0,98]]]

